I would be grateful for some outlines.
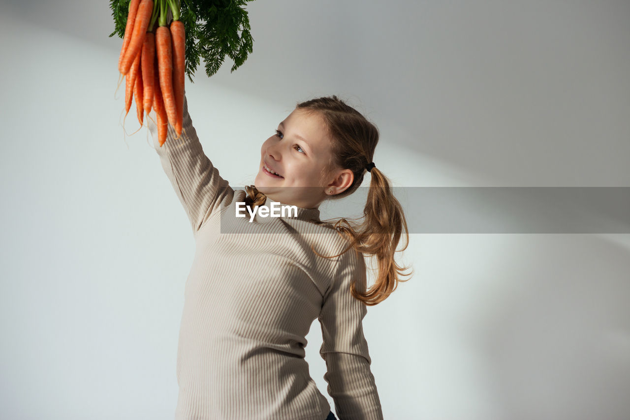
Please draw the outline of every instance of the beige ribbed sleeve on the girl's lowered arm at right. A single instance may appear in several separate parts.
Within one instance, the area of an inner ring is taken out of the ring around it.
[[[341,272],[324,295],[318,317],[323,338],[319,353],[327,371],[324,379],[340,420],[382,420],[362,326],[367,309],[350,293],[353,281],[357,291],[365,292],[365,260],[353,249],[343,256],[347,262],[341,264]]]

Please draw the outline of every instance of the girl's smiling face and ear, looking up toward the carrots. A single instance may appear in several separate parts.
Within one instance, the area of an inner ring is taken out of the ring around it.
[[[341,187],[352,184],[352,178],[347,179],[348,173],[352,177],[349,169],[327,172],[332,152],[324,127],[317,114],[308,115],[297,108],[290,113],[260,149],[256,188],[273,201],[317,208],[330,195],[329,190],[339,193]]]

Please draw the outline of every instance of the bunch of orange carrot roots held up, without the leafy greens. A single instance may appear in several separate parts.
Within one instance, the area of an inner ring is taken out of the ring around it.
[[[173,21],[166,23],[168,9]],[[156,25],[157,24],[157,25]],[[131,0],[118,70],[125,77],[125,117],[135,97],[138,121],[156,111],[160,147],[168,123],[181,135],[186,36],[175,0]]]

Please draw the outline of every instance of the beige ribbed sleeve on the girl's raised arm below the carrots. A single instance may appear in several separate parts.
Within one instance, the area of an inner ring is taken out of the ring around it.
[[[175,129],[168,124],[166,143],[160,147],[157,138],[156,113],[154,110],[147,118],[149,130],[153,137],[154,149],[160,157],[164,172],[173,184],[175,193],[180,199],[188,215],[193,236],[208,217],[221,203],[232,200],[234,190],[228,182],[221,178],[219,170],[203,153],[197,132],[188,114],[188,101],[184,97],[182,133],[176,139]]]

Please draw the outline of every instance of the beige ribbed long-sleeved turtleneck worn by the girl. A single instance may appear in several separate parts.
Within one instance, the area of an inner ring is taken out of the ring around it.
[[[155,120],[154,111],[151,117]],[[328,394],[340,420],[382,419],[362,320],[365,305],[350,294],[366,287],[365,260],[319,210],[297,217],[237,218],[244,190],[233,190],[202,150],[188,103],[185,135],[154,147],[195,237],[185,286],[177,356],[176,420],[324,420],[328,400],[304,360],[306,335],[321,324]],[[266,206],[272,200],[267,198]],[[314,222],[315,221],[315,222]]]

